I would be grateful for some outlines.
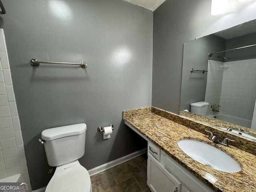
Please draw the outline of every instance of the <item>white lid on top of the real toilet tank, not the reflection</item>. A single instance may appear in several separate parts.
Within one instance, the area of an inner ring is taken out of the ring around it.
[[[61,127],[50,128],[42,131],[41,137],[43,140],[54,140],[62,137],[80,135],[86,131],[86,124],[74,124]]]

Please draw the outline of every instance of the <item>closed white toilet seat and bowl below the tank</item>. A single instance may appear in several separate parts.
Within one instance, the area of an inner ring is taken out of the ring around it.
[[[57,166],[45,192],[91,192],[90,175],[78,160]]]

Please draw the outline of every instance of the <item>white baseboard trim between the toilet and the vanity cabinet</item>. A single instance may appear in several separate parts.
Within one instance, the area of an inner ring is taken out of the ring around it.
[[[89,172],[90,176],[96,175],[96,174],[98,174],[98,173],[100,173],[102,171],[108,170],[108,169],[110,169],[110,168],[112,168],[114,166],[117,166],[117,165],[119,165],[121,163],[124,163],[124,162],[126,162],[128,160],[131,160],[131,159],[133,159],[135,157],[138,157],[138,156],[140,156],[140,155],[142,155],[142,154],[144,154],[146,152],[147,152],[147,148],[144,148],[142,150],[133,152],[133,153],[128,154],[126,156],[120,157],[120,158],[118,158],[116,160],[113,160],[113,161],[107,162],[105,164],[102,164],[102,165],[100,165],[98,167],[92,168],[92,169],[88,170],[88,172]]]

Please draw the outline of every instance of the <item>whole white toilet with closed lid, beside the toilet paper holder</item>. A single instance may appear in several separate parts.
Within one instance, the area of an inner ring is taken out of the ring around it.
[[[56,166],[45,192],[92,192],[90,175],[78,159],[84,155],[86,124],[46,129],[42,144],[48,164]]]

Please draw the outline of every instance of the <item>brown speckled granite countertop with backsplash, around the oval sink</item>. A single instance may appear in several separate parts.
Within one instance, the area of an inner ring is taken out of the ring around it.
[[[124,111],[123,119],[214,191],[256,191],[255,142],[238,136],[234,143],[239,142],[236,145],[240,148],[232,146],[231,142],[229,147],[215,144],[203,134],[205,129],[214,132],[220,138],[228,133],[154,107]],[[232,139],[234,137],[236,136],[232,136]],[[202,141],[222,150],[234,158],[242,170],[237,173],[226,173],[200,164],[178,147],[177,142],[182,139]],[[215,182],[208,179],[209,174],[216,179]]]

